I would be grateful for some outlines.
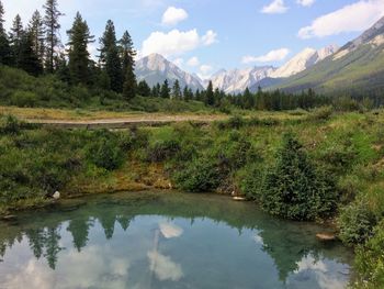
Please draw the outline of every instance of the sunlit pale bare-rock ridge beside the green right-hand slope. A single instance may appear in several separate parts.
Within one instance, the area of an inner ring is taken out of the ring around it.
[[[319,51],[316,51],[314,48],[305,48],[304,51],[295,55],[292,59],[290,59],[286,64],[284,64],[282,67],[269,75],[269,77],[291,77],[314,66],[315,64],[332,55],[337,51],[338,47],[336,45],[330,45]]]

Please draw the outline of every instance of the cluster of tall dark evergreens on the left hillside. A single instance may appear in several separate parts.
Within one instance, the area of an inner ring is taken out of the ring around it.
[[[44,15],[36,10],[29,24],[15,15],[9,32],[4,29],[4,8],[0,1],[0,65],[20,68],[33,76],[55,75],[71,86],[100,88],[123,93],[126,99],[136,95],[134,74],[136,52],[131,35],[124,32],[116,38],[114,24],[106,22],[100,37],[99,60],[90,57],[89,44],[94,42],[87,21],[78,12],[67,31],[68,43],[59,37],[57,0],[46,0]]]

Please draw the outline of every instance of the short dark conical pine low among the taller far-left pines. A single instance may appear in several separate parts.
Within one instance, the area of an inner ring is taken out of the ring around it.
[[[38,76],[43,73],[43,66],[37,54],[33,49],[33,35],[31,32],[22,35],[18,67],[33,76]]]

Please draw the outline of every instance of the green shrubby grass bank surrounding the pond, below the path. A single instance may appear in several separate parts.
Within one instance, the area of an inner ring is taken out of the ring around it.
[[[284,218],[336,218],[340,238],[357,246],[357,287],[382,286],[384,112],[323,108],[246,116],[120,132],[44,129],[2,118],[1,211],[44,204],[56,190],[65,197],[153,187],[235,191]],[[291,138],[283,137],[287,132]],[[286,201],[279,186],[268,185],[286,179],[295,193],[306,192],[301,184],[315,184],[310,202],[300,201],[301,194]]]

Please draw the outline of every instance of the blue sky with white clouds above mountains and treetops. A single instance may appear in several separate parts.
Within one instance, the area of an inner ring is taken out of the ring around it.
[[[45,0],[0,0],[7,26]],[[202,78],[224,68],[281,66],[306,47],[343,45],[384,15],[384,0],[58,0],[61,40],[77,11],[97,40],[106,20],[139,57],[159,53]],[[98,41],[90,46],[97,53]]]

